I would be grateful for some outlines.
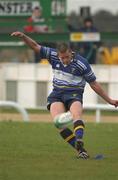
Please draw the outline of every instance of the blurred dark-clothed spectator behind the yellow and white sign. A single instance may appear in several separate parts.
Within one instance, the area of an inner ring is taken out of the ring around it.
[[[92,19],[86,18],[84,20],[84,26],[79,29],[79,32],[95,33],[98,32],[98,30],[94,27]],[[99,44],[98,42],[92,41],[79,43],[80,54],[84,56],[90,64],[96,63],[96,52]]]

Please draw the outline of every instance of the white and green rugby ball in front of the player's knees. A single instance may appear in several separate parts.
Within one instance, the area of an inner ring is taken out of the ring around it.
[[[72,115],[70,111],[57,115],[54,118],[54,123],[57,128],[63,128],[64,126],[72,123]]]

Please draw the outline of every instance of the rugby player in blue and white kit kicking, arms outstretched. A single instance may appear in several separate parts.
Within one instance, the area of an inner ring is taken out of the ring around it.
[[[73,130],[59,128],[62,138],[77,151],[77,157],[88,159],[84,148],[83,135],[85,124],[82,120],[83,93],[86,82],[107,103],[117,107],[118,100],[110,98],[96,81],[96,76],[85,58],[74,53],[68,44],[61,43],[57,49],[44,47],[22,32],[13,32],[11,36],[20,37],[41,58],[48,59],[52,66],[53,90],[47,98],[47,108],[52,118],[70,111],[73,117]]]

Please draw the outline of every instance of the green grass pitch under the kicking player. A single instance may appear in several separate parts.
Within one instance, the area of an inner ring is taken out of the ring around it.
[[[117,180],[118,124],[89,123],[84,140],[89,160],[76,159],[51,123],[0,122],[0,180]]]

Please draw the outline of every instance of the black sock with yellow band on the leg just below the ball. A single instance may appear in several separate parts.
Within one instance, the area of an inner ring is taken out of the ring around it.
[[[62,136],[62,138],[68,142],[73,148],[75,148],[75,135],[73,134],[73,132],[69,129],[69,128],[65,128],[60,132],[60,135]]]

